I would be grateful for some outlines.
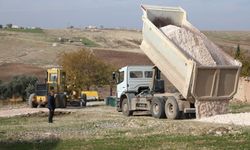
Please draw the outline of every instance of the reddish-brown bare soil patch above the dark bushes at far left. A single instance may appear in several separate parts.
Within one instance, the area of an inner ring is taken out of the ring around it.
[[[43,68],[21,63],[5,63],[0,65],[0,70],[0,80],[4,82],[10,81],[12,77],[17,75],[34,75],[43,81],[46,75]]]

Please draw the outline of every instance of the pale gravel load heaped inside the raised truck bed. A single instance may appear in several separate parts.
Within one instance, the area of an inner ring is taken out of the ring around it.
[[[160,30],[199,65],[235,65],[232,58],[195,28],[167,25]]]

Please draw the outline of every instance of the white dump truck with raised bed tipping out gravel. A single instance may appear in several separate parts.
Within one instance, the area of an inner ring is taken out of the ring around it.
[[[199,63],[160,28],[174,25],[199,32],[187,20],[184,9],[151,5],[142,5],[141,8],[143,41],[140,48],[155,66],[126,66],[113,74],[113,79],[117,80],[117,110],[126,116],[135,111],[149,111],[153,117],[168,119],[225,113],[224,106],[237,90],[241,63],[221,50],[216,51],[214,57],[223,57],[227,63]],[[146,71],[152,72],[150,82],[145,80]],[[136,81],[131,76],[133,73],[137,74]],[[177,92],[164,92],[161,75],[174,85]]]

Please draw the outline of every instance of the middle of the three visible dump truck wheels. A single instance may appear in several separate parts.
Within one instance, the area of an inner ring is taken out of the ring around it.
[[[163,99],[157,97],[153,98],[151,103],[151,114],[154,118],[166,118]]]

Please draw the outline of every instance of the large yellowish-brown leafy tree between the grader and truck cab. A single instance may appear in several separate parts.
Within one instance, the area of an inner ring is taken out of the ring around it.
[[[61,54],[59,64],[66,72],[67,83],[74,90],[89,90],[92,86],[108,85],[113,70],[111,65],[87,49]]]

